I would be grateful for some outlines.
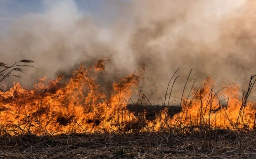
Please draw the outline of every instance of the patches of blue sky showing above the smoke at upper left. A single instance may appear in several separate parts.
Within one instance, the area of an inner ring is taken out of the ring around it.
[[[55,0],[0,0],[0,33],[4,34],[8,26],[21,16],[44,12],[46,1]],[[81,14],[93,16],[104,23],[111,22],[110,18],[115,16],[120,9],[117,5],[106,5],[109,2],[108,0],[75,0]]]

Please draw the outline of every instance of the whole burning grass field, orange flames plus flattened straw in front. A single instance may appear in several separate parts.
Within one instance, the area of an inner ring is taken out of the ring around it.
[[[97,74],[104,72],[103,62],[98,61],[88,69],[81,65],[68,82],[63,82],[67,81],[63,76],[49,82],[43,78],[31,90],[16,83],[8,91],[2,91],[1,155],[4,158],[255,156],[256,104],[248,100],[255,76],[251,76],[241,99],[237,85],[214,93],[214,81],[207,78],[202,87],[192,86],[187,98],[183,90],[180,105],[172,106],[174,101],[170,97],[176,70],[164,98],[160,97],[162,104],[153,106],[150,98],[154,92],[147,97],[140,91],[136,102],[131,99],[141,79],[138,72],[113,82],[111,95],[107,96],[102,91],[104,86],[96,82]],[[1,66],[7,68],[5,64]],[[221,100],[222,95],[227,98]]]

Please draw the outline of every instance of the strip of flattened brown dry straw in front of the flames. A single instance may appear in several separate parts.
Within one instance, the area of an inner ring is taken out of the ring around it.
[[[256,158],[256,132],[0,137],[0,158]]]

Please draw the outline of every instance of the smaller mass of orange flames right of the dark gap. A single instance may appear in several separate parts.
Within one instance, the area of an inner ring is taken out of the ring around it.
[[[237,84],[222,88],[222,93],[213,92],[214,81],[207,78],[203,87],[194,89],[191,100],[183,97],[182,111],[173,118],[166,118],[166,110],[157,119],[158,125],[199,128],[203,126],[228,129],[255,128],[256,104],[248,101],[242,106]],[[226,96],[223,104],[220,96]]]

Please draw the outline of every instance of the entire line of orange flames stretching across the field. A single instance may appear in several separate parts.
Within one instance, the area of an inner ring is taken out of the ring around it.
[[[212,128],[253,128],[255,103],[248,101],[241,107],[237,85],[214,93],[214,81],[207,78],[203,87],[194,89],[193,98],[183,97],[182,111],[170,117],[168,108],[160,111],[152,121],[146,111],[136,116],[126,109],[132,94],[138,89],[140,73],[130,74],[112,84],[107,96],[96,76],[104,71],[104,61],[93,68],[81,65],[68,82],[63,76],[46,82],[42,78],[28,90],[16,83],[9,91],[1,92],[1,134],[51,134],[71,132],[159,131],[170,127],[209,126]],[[226,105],[220,101],[226,98]]]

